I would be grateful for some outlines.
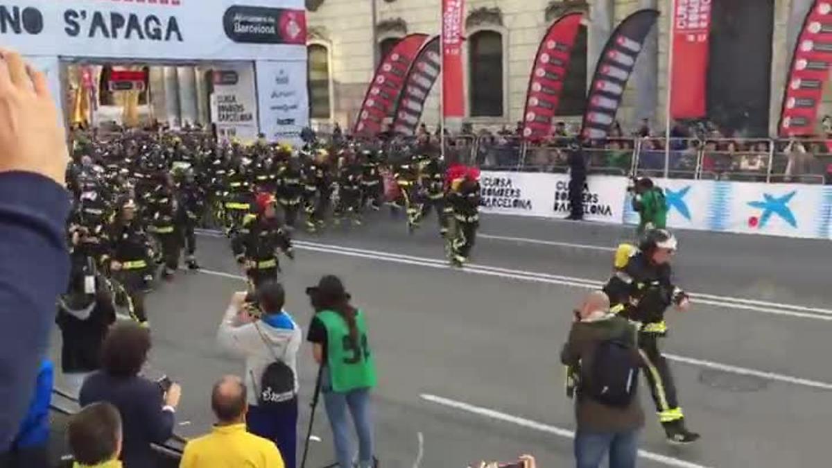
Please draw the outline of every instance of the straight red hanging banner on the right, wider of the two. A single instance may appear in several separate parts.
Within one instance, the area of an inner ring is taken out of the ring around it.
[[[674,0],[671,117],[706,116],[711,0]]]

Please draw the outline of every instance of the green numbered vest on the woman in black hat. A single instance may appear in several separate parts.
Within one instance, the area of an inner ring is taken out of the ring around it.
[[[327,366],[332,390],[344,393],[374,387],[375,364],[369,349],[364,312],[358,311],[355,316],[358,340],[349,336],[349,325],[338,312],[320,311],[317,316],[326,328]]]

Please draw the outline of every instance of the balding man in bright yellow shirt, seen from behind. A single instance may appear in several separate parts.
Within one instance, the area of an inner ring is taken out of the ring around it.
[[[248,403],[239,377],[224,376],[214,385],[211,409],[214,430],[188,442],[180,468],[285,468],[274,442],[245,431]]]

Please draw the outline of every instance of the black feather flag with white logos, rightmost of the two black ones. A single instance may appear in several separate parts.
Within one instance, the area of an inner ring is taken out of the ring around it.
[[[583,115],[581,134],[585,138],[606,138],[616,120],[626,82],[636,66],[644,40],[656,23],[659,12],[639,10],[626,17],[612,32],[592,77]]]

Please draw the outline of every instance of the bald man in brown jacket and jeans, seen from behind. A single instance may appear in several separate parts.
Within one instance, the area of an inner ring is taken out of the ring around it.
[[[636,466],[638,431],[644,426],[644,412],[638,396],[626,406],[610,406],[587,395],[587,370],[602,342],[617,340],[629,344],[634,365],[641,356],[636,348],[636,328],[623,317],[609,311],[610,301],[603,292],[592,292],[575,311],[575,322],[563,346],[561,361],[570,369],[570,376],[581,376],[575,396],[577,431],[575,456],[578,468],[597,468],[609,453],[610,466]],[[637,386],[636,386],[637,387]]]

